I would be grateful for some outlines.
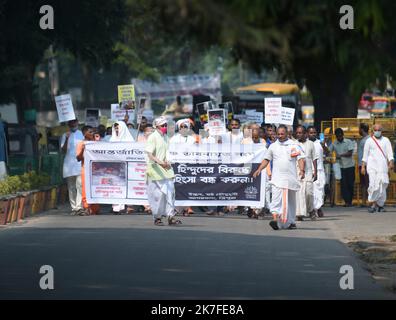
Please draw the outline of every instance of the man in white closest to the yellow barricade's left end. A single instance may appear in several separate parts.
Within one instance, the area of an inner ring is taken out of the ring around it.
[[[314,210],[315,214],[319,217],[323,217],[322,207],[324,205],[325,186],[326,186],[326,174],[324,170],[324,158],[323,158],[323,147],[320,140],[317,139],[317,131],[315,127],[308,128],[308,138],[315,145],[316,154],[318,156],[317,161],[317,179],[313,183],[314,187]]]

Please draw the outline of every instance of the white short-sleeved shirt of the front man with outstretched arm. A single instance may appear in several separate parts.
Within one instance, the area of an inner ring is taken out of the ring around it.
[[[292,154],[296,154],[292,157]],[[277,140],[268,148],[264,157],[272,161],[271,184],[278,188],[298,191],[300,183],[297,177],[297,160],[304,159],[298,143],[292,140],[280,142]]]

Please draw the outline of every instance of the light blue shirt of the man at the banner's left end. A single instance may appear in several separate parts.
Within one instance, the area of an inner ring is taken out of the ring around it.
[[[80,130],[71,132],[69,140],[67,141],[66,156],[63,161],[63,178],[74,177],[81,175],[81,162],[77,161],[76,148],[77,144],[84,140],[84,136]],[[66,133],[61,139],[61,147],[63,148],[66,142]]]

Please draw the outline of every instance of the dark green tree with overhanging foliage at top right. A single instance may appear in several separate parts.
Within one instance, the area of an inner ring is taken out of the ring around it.
[[[396,3],[352,0],[355,29],[339,25],[340,0],[162,1],[163,28],[183,28],[202,45],[233,48],[256,70],[276,68],[306,84],[316,121],[355,117],[359,94],[394,73]]]

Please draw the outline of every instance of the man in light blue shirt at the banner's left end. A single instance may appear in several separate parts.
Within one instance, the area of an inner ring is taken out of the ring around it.
[[[78,130],[78,120],[68,122],[69,131],[61,139],[61,148],[65,153],[63,162],[63,177],[66,179],[69,191],[69,202],[72,215],[79,215],[83,211],[82,185],[81,185],[81,163],[76,158],[76,147],[84,140],[84,136]]]

